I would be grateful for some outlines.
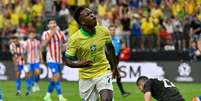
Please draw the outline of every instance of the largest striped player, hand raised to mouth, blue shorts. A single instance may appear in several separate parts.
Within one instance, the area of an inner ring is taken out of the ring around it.
[[[51,101],[51,93],[54,88],[57,91],[59,101],[66,101],[61,92],[60,73],[62,64],[62,45],[66,40],[63,32],[58,29],[56,20],[50,18],[48,21],[49,30],[44,31],[42,35],[41,50],[47,47],[47,65],[50,68],[53,77],[49,81],[48,92],[44,97],[45,101]]]

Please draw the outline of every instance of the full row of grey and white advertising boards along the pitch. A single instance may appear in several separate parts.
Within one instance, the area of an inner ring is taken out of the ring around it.
[[[149,78],[168,78],[177,82],[201,82],[201,62],[120,62],[118,69],[122,82],[136,82],[139,76]],[[15,80],[15,69],[11,61],[0,61],[0,80]],[[51,78],[52,73],[47,65],[40,64],[40,79]],[[21,72],[21,78],[29,71],[29,65],[25,65]],[[63,80],[78,81],[78,69],[63,66],[61,76]],[[115,81],[115,80],[114,80]]]

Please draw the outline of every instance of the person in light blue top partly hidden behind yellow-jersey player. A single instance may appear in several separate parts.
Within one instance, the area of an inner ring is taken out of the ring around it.
[[[121,39],[115,35],[115,29],[116,29],[116,26],[115,25],[110,25],[109,26],[109,31],[110,31],[110,34],[112,36],[112,44],[115,48],[115,56],[116,56],[116,59],[117,59],[117,65],[119,63],[119,55],[121,53],[121,49],[122,49],[122,41]],[[122,96],[128,96],[130,93],[129,92],[125,92],[124,88],[123,88],[123,85],[121,83],[121,76],[119,74],[119,76],[116,78],[117,79],[117,85],[119,87],[119,90],[121,92],[121,95]]]

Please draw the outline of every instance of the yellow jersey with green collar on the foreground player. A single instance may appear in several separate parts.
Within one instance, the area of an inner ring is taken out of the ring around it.
[[[105,55],[105,44],[112,43],[111,36],[106,27],[96,26],[95,34],[89,36],[82,28],[68,40],[65,54],[77,60],[91,60],[92,66],[80,68],[81,80],[89,80],[110,73],[110,65]]]

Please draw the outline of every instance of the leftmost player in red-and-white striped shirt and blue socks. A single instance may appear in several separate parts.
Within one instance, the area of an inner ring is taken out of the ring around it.
[[[10,51],[12,53],[12,59],[13,63],[16,66],[15,72],[16,72],[16,89],[17,93],[16,95],[21,95],[21,78],[20,74],[24,68],[25,64],[25,49],[23,47],[23,44],[18,39],[17,35],[14,35],[11,40],[10,44]],[[31,77],[28,71],[25,71],[25,78],[26,78],[26,96],[30,94],[31,89]]]

